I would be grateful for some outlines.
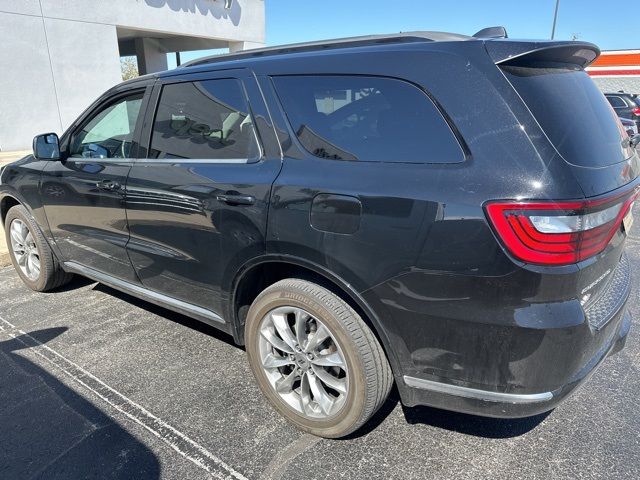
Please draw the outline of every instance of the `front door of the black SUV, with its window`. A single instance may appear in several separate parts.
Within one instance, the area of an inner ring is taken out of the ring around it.
[[[124,195],[144,90],[106,100],[63,142],[40,193],[62,260],[137,281],[127,256]]]

